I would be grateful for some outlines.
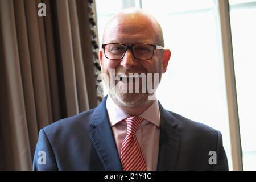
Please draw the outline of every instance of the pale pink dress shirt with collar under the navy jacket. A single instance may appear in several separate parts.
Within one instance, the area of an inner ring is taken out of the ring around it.
[[[106,100],[106,109],[109,114],[110,127],[115,139],[117,151],[121,155],[122,142],[126,137],[126,122],[123,119],[131,115],[120,109],[108,96]],[[142,148],[146,166],[148,171],[155,171],[158,164],[158,149],[160,135],[160,112],[158,100],[148,107],[139,117],[144,118],[144,121],[139,126],[136,137],[139,145]]]

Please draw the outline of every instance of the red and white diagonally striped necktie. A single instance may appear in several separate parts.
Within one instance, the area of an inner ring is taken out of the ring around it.
[[[143,152],[136,138],[136,131],[141,125],[142,117],[129,117],[127,123],[127,134],[121,148],[121,163],[124,171],[146,171],[146,162]]]

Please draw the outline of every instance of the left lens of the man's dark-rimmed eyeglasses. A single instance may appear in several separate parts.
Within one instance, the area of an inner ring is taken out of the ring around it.
[[[121,59],[126,47],[122,44],[108,44],[105,46],[105,56],[108,59]]]

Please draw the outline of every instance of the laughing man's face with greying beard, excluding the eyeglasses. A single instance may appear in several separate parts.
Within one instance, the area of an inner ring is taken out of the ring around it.
[[[157,44],[156,40],[156,28],[154,24],[148,19],[137,19],[131,17],[120,17],[115,18],[109,24],[108,28],[105,30],[104,34],[104,44],[106,43],[121,43],[121,44],[136,44],[136,43],[148,43]],[[135,59],[131,50],[127,50],[123,59],[120,60],[110,60],[104,55],[104,50],[100,50],[100,61],[102,72],[108,75],[108,80],[104,80],[104,83],[109,88],[109,95],[119,106],[125,107],[136,107],[139,105],[146,104],[148,102],[149,93],[117,93],[114,92],[115,88],[110,88],[110,69],[115,70],[115,75],[129,73],[141,73],[147,74],[152,73],[152,78],[154,82],[154,73],[159,74],[159,82],[162,76],[162,51],[160,49],[155,49],[154,55],[150,60],[138,60]],[[115,81],[115,85],[125,84],[120,80]],[[134,84],[134,83],[133,83]],[[129,87],[126,84],[127,88]],[[140,88],[142,88],[142,83],[140,82]],[[154,88],[154,84],[152,84]]]

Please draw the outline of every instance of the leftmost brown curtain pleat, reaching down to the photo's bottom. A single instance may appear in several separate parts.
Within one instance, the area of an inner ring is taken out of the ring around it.
[[[27,130],[22,77],[20,72],[18,42],[15,27],[13,1],[0,1],[3,61],[6,70],[6,89],[8,106],[6,120],[1,121],[9,133],[3,133],[3,143],[7,168],[30,169],[31,152]],[[4,113],[1,113],[4,114]],[[1,129],[2,131],[5,129]],[[3,157],[3,156],[2,156]]]

